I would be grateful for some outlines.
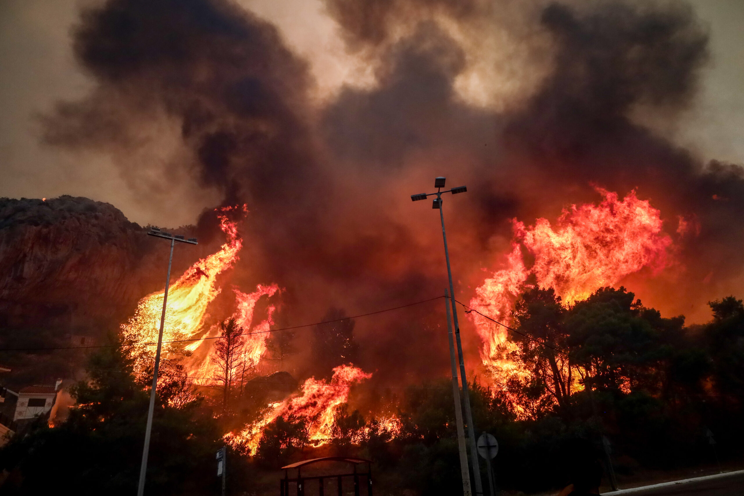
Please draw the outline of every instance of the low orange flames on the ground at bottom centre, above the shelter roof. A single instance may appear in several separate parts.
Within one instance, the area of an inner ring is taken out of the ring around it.
[[[311,377],[302,385],[301,393],[289,396],[283,402],[272,403],[262,419],[240,433],[228,433],[225,439],[255,454],[263,428],[280,416],[286,418],[292,415],[308,421],[312,445],[323,445],[330,441],[336,407],[347,402],[350,387],[371,377],[371,373],[365,373],[353,364],[334,368],[330,382]],[[388,419],[388,422],[394,427],[393,420]]]

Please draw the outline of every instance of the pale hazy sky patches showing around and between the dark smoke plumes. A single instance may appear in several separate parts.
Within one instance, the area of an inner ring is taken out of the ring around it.
[[[50,112],[55,102],[76,100],[92,88],[92,82],[74,61],[69,41],[80,7],[91,3],[0,0],[0,196],[88,196],[114,204],[130,220],[141,224],[193,222],[204,207],[219,202],[217,192],[202,190],[194,181],[179,181],[172,188],[166,185],[161,194],[143,195],[121,176],[121,164],[114,164],[107,155],[65,152],[40,143],[38,115]],[[324,13],[320,1],[238,3],[275,22],[292,49],[310,61],[318,101],[333,95],[344,83],[373,84],[362,59],[344,51],[336,25]],[[690,3],[711,33],[711,61],[701,91],[693,109],[674,123],[654,116],[643,118],[704,161],[715,158],[744,164],[744,1]],[[496,48],[487,61],[498,62],[498,57],[507,54],[499,54]],[[513,91],[506,80],[493,85],[494,91],[483,91],[483,78],[479,80],[476,73],[458,82],[466,100],[498,106],[504,95]],[[498,82],[498,74],[490,77]],[[172,160],[179,146],[178,136],[173,134],[169,141],[168,132],[163,129],[158,133],[157,149],[135,159],[155,165]],[[156,181],[156,173],[146,179]]]

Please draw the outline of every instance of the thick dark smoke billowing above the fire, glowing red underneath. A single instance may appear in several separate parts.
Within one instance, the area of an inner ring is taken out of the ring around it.
[[[306,63],[246,10],[225,0],[106,1],[74,32],[77,58],[98,86],[85,100],[60,103],[46,139],[126,149],[148,118],[176,122],[190,157],[182,167],[219,188],[225,204],[251,210],[236,280],[285,287],[290,321],[320,318],[330,306],[353,315],[441,294],[438,219],[408,200],[430,190],[435,175],[469,187],[466,199],[446,199],[463,300],[507,247],[508,219],[532,222],[594,201],[592,184],[620,195],[638,188],[670,233],[678,215],[699,222],[699,236],[679,241],[684,283],[650,283],[657,293],[673,291],[658,301],[682,301],[664,310],[684,312],[688,301],[702,305],[728,289],[743,262],[741,168],[704,167],[633,118],[644,109],[673,119],[695,93],[708,38],[689,8],[516,9],[505,0],[327,7],[348,49],[368,57],[377,84],[343,88],[317,109]],[[442,19],[476,33],[492,24],[513,29],[547,75],[507,110],[466,103],[455,80],[472,47]],[[214,219],[205,214],[201,226],[214,231]],[[703,279],[713,282],[701,290]],[[360,321],[365,365],[383,375],[388,360],[403,373],[446,367],[445,343],[431,339],[442,331],[440,310],[437,303],[405,318]],[[470,345],[475,358],[475,339]]]

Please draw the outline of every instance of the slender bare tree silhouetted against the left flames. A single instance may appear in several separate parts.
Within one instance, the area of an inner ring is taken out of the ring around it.
[[[237,380],[240,380],[242,384],[243,375],[246,373],[246,358],[243,356],[243,344],[246,342],[246,337],[243,335],[243,327],[238,326],[234,318],[222,322],[219,328],[222,332],[215,340],[217,342],[214,344],[211,361],[215,365],[214,379],[221,384],[219,387],[222,389],[222,412],[224,413],[231,385]]]

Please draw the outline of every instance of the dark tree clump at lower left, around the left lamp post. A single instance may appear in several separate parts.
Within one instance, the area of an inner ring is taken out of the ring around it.
[[[136,490],[152,376],[135,376],[121,347],[103,349],[89,360],[89,379],[72,393],[77,407],[61,425],[31,426],[0,450],[10,472],[8,495],[41,495],[60,484],[80,495],[131,495]],[[219,433],[199,399],[176,402],[183,377],[164,376],[153,417],[147,472],[150,494],[197,494],[211,480]]]

